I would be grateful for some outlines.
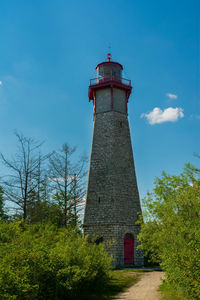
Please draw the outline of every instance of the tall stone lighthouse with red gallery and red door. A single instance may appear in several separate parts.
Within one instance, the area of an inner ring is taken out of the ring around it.
[[[109,52],[96,67],[97,78],[90,80],[94,131],[83,228],[89,238],[113,241],[109,251],[115,266],[142,266],[135,224],[141,207],[127,111],[132,87],[122,70]]]

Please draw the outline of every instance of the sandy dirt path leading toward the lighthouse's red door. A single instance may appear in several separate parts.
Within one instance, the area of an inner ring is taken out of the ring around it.
[[[126,292],[119,294],[116,300],[159,300],[157,292],[164,278],[163,272],[148,272],[142,275],[141,280],[130,287]]]

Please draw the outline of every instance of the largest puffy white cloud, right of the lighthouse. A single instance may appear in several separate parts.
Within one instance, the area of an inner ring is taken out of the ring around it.
[[[168,107],[164,110],[155,107],[150,113],[141,115],[141,118],[146,118],[150,125],[164,122],[176,122],[183,117],[183,108],[180,107]]]

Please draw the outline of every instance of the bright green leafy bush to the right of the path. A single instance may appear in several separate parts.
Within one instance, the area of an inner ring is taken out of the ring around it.
[[[166,173],[148,193],[139,239],[145,254],[160,261],[167,281],[189,299],[200,299],[200,174],[187,164],[179,176]]]

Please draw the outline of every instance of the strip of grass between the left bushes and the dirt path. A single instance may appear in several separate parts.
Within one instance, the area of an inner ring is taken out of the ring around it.
[[[135,273],[136,270],[113,270],[110,271],[110,279],[108,284],[101,287],[98,292],[94,294],[85,295],[81,300],[110,300],[113,299],[118,293],[123,292],[133,284],[137,283],[140,279],[142,272]],[[138,272],[138,270],[136,271]]]

